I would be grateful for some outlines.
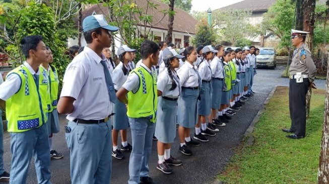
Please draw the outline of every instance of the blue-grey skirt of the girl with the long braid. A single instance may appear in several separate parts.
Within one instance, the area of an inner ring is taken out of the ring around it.
[[[177,101],[158,98],[155,137],[162,143],[172,143],[176,137]]]

